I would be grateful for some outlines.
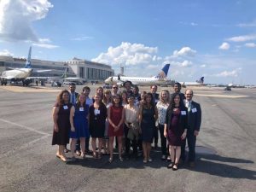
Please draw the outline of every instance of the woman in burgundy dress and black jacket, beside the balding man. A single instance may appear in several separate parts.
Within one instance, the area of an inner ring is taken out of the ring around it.
[[[172,168],[173,171],[177,170],[181,145],[187,135],[188,111],[182,103],[179,94],[174,94],[166,112],[164,136],[168,139],[172,159],[172,163],[167,168]]]

